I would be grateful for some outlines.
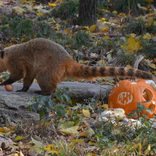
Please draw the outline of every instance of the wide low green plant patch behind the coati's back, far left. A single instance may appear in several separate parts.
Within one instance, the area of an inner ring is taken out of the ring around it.
[[[35,37],[53,37],[54,29],[46,21],[30,20],[20,15],[4,17],[0,26],[0,31],[5,37],[22,39],[27,36],[28,39]]]

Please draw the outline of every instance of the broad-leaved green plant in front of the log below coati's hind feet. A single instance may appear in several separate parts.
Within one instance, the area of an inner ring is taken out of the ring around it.
[[[54,116],[56,114],[58,117],[63,117],[66,114],[65,104],[72,104],[70,96],[66,94],[68,91],[68,87],[57,89],[53,99],[44,96],[34,97],[32,100],[34,104],[29,106],[29,110],[39,112],[40,120],[45,117],[46,113],[49,114],[50,112]]]

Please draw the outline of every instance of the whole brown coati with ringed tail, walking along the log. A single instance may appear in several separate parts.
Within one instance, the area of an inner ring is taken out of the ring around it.
[[[81,65],[61,45],[44,38],[1,50],[0,72],[6,70],[10,72],[10,77],[0,85],[12,84],[23,78],[23,88],[18,92],[26,92],[36,78],[41,88],[36,93],[42,95],[51,95],[66,77],[92,80],[96,77],[126,76],[156,80],[154,75],[133,68]]]

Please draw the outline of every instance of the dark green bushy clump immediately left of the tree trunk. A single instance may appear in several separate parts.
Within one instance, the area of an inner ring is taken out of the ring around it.
[[[56,6],[50,13],[51,16],[68,19],[76,17],[78,13],[78,0],[63,1]]]

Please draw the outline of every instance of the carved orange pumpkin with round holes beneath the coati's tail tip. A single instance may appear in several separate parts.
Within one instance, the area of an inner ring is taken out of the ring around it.
[[[126,114],[137,109],[137,102],[146,108],[151,109],[151,113],[143,111],[143,114],[148,113],[148,117],[152,118],[156,112],[156,91],[152,86],[146,83],[146,80],[138,79],[137,81],[123,80],[117,83],[110,92],[108,98],[109,108],[123,108]]]

